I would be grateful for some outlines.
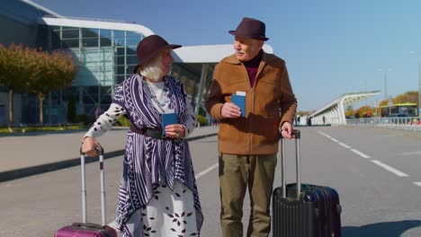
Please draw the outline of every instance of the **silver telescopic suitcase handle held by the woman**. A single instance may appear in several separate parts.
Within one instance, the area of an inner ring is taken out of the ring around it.
[[[100,179],[101,179],[101,223],[105,225],[105,175],[103,171],[103,147],[96,146],[95,150],[99,154]],[[85,154],[80,148],[80,166],[82,173],[82,222],[86,223],[86,174],[85,174]]]

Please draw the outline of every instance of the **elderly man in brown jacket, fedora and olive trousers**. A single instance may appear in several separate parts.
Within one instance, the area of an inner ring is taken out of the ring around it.
[[[297,100],[285,62],[264,52],[264,22],[244,18],[235,53],[215,67],[206,104],[219,120],[219,186],[223,236],[242,237],[248,187],[251,213],[247,236],[268,236],[276,153],[281,136],[292,137]],[[237,104],[232,98],[240,98]],[[241,110],[243,108],[243,110]]]

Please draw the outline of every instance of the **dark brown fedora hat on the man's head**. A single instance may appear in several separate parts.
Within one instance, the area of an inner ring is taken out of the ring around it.
[[[269,40],[265,35],[266,26],[264,22],[255,20],[253,18],[245,17],[238,24],[236,31],[228,31],[230,34],[240,38],[255,39],[255,40]]]

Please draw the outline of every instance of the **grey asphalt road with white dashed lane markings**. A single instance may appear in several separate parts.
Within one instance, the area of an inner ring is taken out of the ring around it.
[[[396,130],[300,127],[301,180],[335,188],[345,237],[421,236],[421,140]],[[203,237],[221,236],[217,137],[192,141]],[[287,180],[295,179],[287,141]],[[122,157],[105,162],[107,221],[115,213]],[[86,166],[88,221],[100,223],[98,164]],[[277,165],[275,187],[281,185]],[[0,183],[0,236],[53,236],[81,220],[80,167]],[[249,202],[245,202],[244,223]],[[245,226],[246,229],[246,226]]]

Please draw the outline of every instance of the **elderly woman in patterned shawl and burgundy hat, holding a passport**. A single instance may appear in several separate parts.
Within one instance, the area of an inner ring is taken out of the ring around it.
[[[134,75],[117,86],[110,108],[84,136],[82,151],[94,156],[94,137],[121,116],[130,119],[116,217],[125,237],[200,234],[203,216],[185,139],[196,119],[183,84],[168,75],[171,51],[180,47],[157,35],[141,40]],[[177,122],[164,127],[163,115],[171,113]]]

